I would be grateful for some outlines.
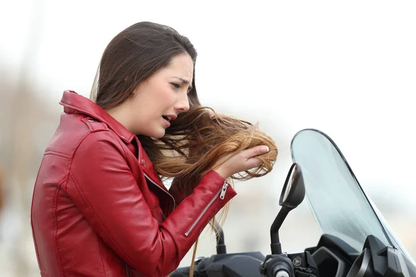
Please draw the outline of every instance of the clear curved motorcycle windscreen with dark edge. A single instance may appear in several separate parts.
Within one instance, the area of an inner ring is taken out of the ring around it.
[[[304,129],[294,136],[291,152],[302,168],[306,199],[322,233],[335,235],[358,253],[367,236],[374,235],[410,258],[329,136]]]

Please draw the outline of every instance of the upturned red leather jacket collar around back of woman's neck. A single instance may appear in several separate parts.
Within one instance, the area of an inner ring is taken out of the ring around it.
[[[64,106],[64,111],[67,113],[79,112],[100,120],[118,134],[126,143],[131,143],[132,139],[135,137],[135,135],[119,123],[119,121],[110,116],[107,111],[96,105],[92,100],[79,95],[75,91],[64,91],[59,103]]]

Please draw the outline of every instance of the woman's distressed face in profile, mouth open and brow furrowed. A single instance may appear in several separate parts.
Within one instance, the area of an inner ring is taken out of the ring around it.
[[[164,136],[170,121],[189,109],[188,92],[192,79],[191,56],[180,54],[139,84],[130,98],[130,131],[153,138]]]

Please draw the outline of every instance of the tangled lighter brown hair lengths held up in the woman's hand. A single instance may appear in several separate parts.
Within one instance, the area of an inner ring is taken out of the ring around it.
[[[161,139],[139,137],[159,175],[174,178],[170,190],[177,199],[190,195],[202,176],[220,166],[226,157],[257,145],[269,148],[259,156],[261,166],[232,175],[231,179],[261,177],[272,170],[277,147],[257,125],[216,114],[207,107],[188,111],[177,120]]]

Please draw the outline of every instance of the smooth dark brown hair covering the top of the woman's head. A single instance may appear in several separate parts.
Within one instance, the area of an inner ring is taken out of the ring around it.
[[[175,55],[188,53],[193,60],[189,105],[200,105],[195,86],[196,50],[187,37],[169,26],[139,22],[122,30],[104,50],[91,98],[103,109],[120,105],[137,86],[167,66]]]

